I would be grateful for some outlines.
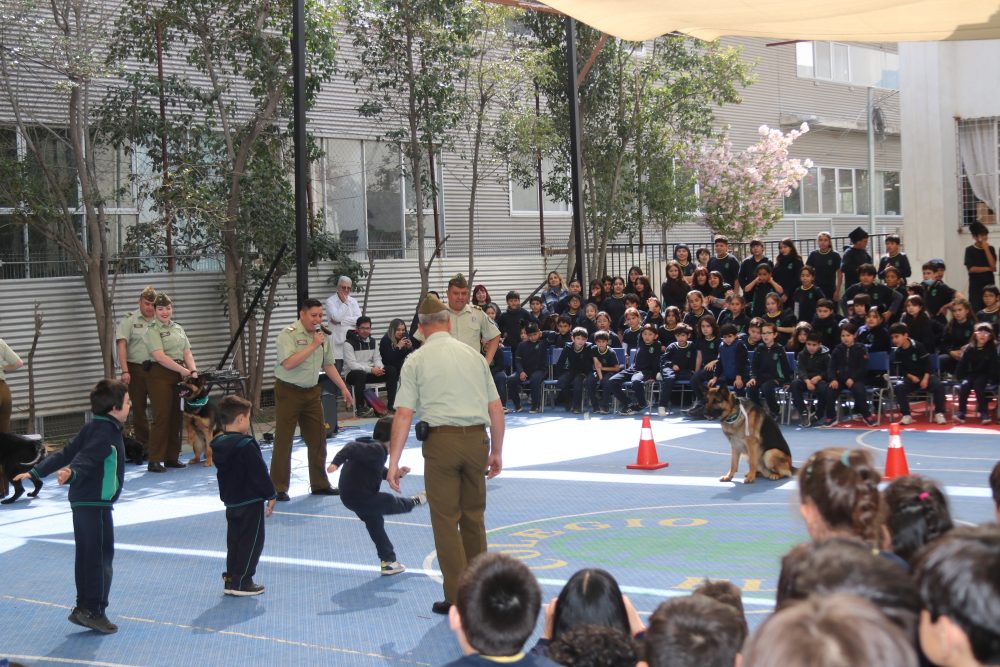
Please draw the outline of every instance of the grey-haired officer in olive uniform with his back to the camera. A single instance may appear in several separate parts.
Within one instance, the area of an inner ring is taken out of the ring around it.
[[[445,599],[431,609],[446,614],[459,575],[486,551],[486,479],[502,467],[504,410],[483,355],[449,335],[448,308],[430,295],[418,313],[426,342],[400,371],[386,480],[399,491],[399,458],[417,414],[430,427],[423,443],[424,478],[444,575]]]

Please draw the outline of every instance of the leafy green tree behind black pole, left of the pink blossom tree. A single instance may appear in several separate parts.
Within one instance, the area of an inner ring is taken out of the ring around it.
[[[549,113],[541,123],[530,114],[511,123],[518,137],[511,145],[524,155],[532,148],[526,142],[537,142],[557,165],[546,190],[569,200],[564,22],[541,14],[528,14],[525,22],[543,52],[536,78]],[[577,72],[600,40],[600,33],[578,25]],[[607,39],[580,84],[582,213],[590,275],[603,270],[608,242],[619,234],[649,223],[666,229],[694,210],[692,174],[680,167],[682,148],[693,137],[711,134],[712,109],[739,102],[741,87],[750,82],[750,67],[739,50],[717,42],[683,36],[645,44]],[[512,174],[528,182],[525,166],[514,160]]]

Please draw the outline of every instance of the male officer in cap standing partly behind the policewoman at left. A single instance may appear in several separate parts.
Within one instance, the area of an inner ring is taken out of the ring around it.
[[[115,347],[121,380],[128,385],[132,399],[132,429],[135,439],[149,445],[149,421],[146,419],[146,371],[143,363],[150,361],[146,347],[146,329],[155,319],[156,290],[146,287],[139,293],[139,308],[126,313],[115,329]]]

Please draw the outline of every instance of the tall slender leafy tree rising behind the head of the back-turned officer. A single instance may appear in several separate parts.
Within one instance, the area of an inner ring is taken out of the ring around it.
[[[344,2],[347,34],[359,52],[347,71],[363,97],[358,113],[381,122],[383,138],[398,143],[413,188],[421,293],[436,254],[427,256],[424,241],[424,202],[436,198],[428,164],[462,120],[458,86],[471,53],[473,12],[464,0]]]

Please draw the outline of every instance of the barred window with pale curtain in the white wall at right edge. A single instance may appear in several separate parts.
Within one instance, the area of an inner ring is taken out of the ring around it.
[[[957,144],[962,224],[994,224],[1000,208],[1000,118],[958,121]]]

